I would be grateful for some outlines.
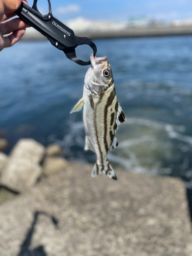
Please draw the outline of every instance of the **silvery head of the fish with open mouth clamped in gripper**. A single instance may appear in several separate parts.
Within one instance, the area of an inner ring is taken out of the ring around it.
[[[114,83],[113,74],[108,57],[96,58],[91,55],[91,67],[86,77],[85,85],[94,94],[101,95]]]

